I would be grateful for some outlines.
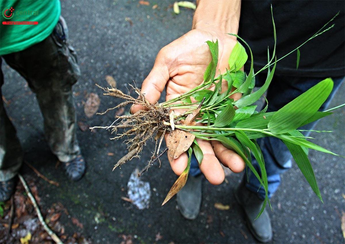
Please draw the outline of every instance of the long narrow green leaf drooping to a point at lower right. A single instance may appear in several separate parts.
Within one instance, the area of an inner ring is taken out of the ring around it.
[[[286,141],[283,141],[283,142],[289,149],[291,155],[293,156],[300,171],[303,173],[305,179],[308,181],[309,185],[312,187],[313,191],[319,197],[321,202],[323,202],[319,187],[317,186],[317,183],[316,183],[313,168],[309,162],[307,154],[304,152],[301,146],[290,143],[290,142],[286,142]]]

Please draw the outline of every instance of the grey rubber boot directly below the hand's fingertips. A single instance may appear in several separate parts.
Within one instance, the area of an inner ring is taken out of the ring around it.
[[[185,186],[177,193],[177,205],[187,220],[195,220],[201,205],[201,175],[188,175]]]

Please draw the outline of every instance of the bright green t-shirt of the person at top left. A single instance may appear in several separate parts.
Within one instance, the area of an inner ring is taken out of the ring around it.
[[[0,10],[0,55],[22,51],[46,39],[61,13],[59,0],[0,0]],[[3,21],[37,21],[38,24],[13,25]]]

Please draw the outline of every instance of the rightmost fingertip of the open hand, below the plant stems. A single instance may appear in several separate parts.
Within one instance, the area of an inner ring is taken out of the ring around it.
[[[213,150],[220,162],[235,173],[242,172],[245,168],[244,160],[233,150],[227,149],[221,142],[211,141]]]

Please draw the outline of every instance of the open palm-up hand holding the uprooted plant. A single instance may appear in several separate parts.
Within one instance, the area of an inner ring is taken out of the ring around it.
[[[236,44],[236,38],[217,30],[194,29],[162,48],[157,54],[154,67],[142,83],[141,91],[150,103],[159,100],[161,92],[166,88],[166,100],[188,92],[203,82],[204,71],[211,61],[211,53],[206,41],[218,40],[218,66],[221,73],[229,68],[228,58]],[[222,84],[227,88],[227,82]],[[239,99],[242,94],[234,94],[231,98]],[[138,106],[132,112],[142,109]],[[217,141],[197,139],[204,153],[200,170],[211,184],[221,184],[224,181],[224,171],[219,161],[233,172],[244,170],[243,159],[234,151],[227,149]],[[188,161],[187,153],[177,159],[168,156],[172,170],[181,174]]]

